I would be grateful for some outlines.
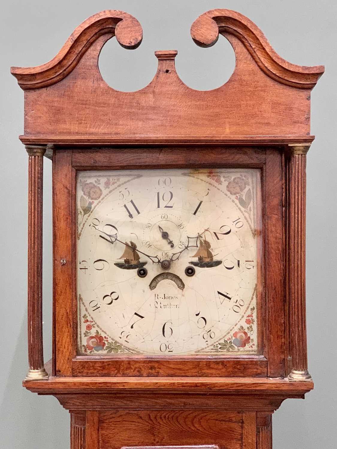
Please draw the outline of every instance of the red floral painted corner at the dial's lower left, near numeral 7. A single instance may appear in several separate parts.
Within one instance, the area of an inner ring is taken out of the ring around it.
[[[124,353],[122,345],[116,341],[109,341],[108,337],[103,336],[96,328],[93,320],[89,320],[88,315],[84,313],[83,324],[85,326],[84,338],[86,338],[86,344],[82,344],[84,353],[94,354],[95,352],[104,351],[106,354],[118,354]]]

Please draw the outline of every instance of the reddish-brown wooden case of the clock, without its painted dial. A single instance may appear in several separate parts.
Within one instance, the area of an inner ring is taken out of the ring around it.
[[[226,84],[207,92],[182,82],[174,50],[155,53],[157,73],[140,91],[108,86],[98,70],[102,46],[114,36],[129,49],[142,41],[139,22],[122,11],[102,11],[84,21],[50,62],[11,69],[25,91],[20,139],[29,153],[31,369],[23,385],[56,396],[71,412],[72,449],[111,449],[111,441],[116,449],[149,444],[147,449],[195,449],[196,443],[200,449],[209,443],[270,449],[271,414],[284,399],[303,398],[313,388],[306,350],[305,167],[314,139],[310,92],[324,67],[285,61],[262,31],[235,11],[210,10],[191,27],[192,39],[201,47],[212,46],[219,35],[230,41],[236,66]],[[41,313],[44,151],[53,160],[54,215],[48,380]],[[262,170],[263,223],[274,231],[264,233],[264,270],[270,283],[261,309],[264,355],[213,357],[202,364],[197,357],[181,358],[171,366],[155,358],[136,357],[123,365],[117,359],[96,358],[92,364],[76,357],[76,255],[65,226],[71,217],[75,227],[75,172],[159,168],[163,155],[170,168],[202,167],[206,160],[208,167]]]

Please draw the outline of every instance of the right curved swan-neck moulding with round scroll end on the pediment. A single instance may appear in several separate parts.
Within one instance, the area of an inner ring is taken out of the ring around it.
[[[212,47],[219,37],[237,37],[257,66],[279,83],[297,88],[313,88],[324,73],[324,66],[297,66],[285,61],[271,47],[262,31],[244,15],[230,9],[211,9],[191,26],[191,36],[200,47]]]

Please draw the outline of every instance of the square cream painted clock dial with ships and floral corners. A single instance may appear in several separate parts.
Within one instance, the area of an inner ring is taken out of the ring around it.
[[[80,354],[256,353],[260,171],[80,172]]]

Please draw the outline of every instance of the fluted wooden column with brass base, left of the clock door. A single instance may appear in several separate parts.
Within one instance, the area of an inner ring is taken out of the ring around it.
[[[46,380],[42,340],[42,195],[45,147],[26,146],[28,162],[28,363],[25,380]]]

